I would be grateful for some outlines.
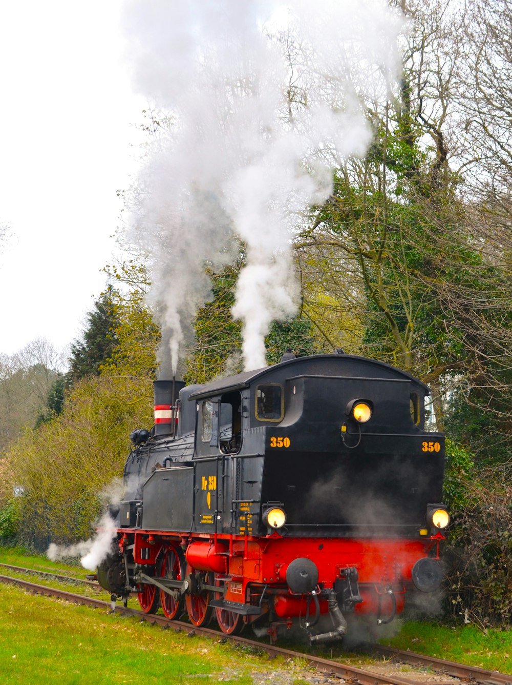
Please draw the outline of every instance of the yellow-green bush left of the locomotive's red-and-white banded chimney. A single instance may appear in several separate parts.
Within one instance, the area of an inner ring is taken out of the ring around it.
[[[150,384],[114,370],[90,377],[73,388],[61,416],[18,440],[8,455],[12,484],[23,488],[18,543],[90,537],[100,493],[122,474],[130,432],[152,423],[150,397]]]

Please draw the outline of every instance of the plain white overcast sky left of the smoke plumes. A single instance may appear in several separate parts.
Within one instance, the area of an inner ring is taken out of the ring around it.
[[[0,2],[0,353],[77,338],[137,167],[121,0]]]

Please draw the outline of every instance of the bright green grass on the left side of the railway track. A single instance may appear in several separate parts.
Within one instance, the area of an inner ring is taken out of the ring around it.
[[[0,548],[0,562],[66,575],[72,569],[12,549]],[[295,673],[297,685],[306,682],[301,679],[302,663],[285,664],[280,658],[270,662],[265,653],[188,637],[185,632],[40,597],[9,584],[0,584],[0,664],[0,685],[252,685],[257,673],[273,673],[271,680],[279,682],[284,671],[291,677]]]

